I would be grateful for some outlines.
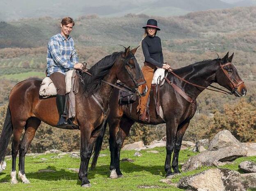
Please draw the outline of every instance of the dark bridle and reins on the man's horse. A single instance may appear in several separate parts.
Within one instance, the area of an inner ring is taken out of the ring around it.
[[[131,53],[131,54],[132,54],[132,53]],[[129,62],[130,59],[132,59],[132,60],[134,61],[134,63],[135,63],[136,79],[134,78],[133,74],[130,73],[130,70],[128,70],[128,67],[127,67],[128,62]],[[82,63],[82,64],[83,64],[83,68],[82,68],[82,70],[81,70],[82,73],[86,73],[86,74],[92,76],[92,74],[87,71],[87,68],[86,68],[86,67],[87,67],[87,63],[84,62],[84,63]],[[142,71],[141,71],[141,69],[140,69],[140,67],[139,67],[139,64],[137,63],[137,60],[136,60],[134,54],[132,54],[131,57],[126,58],[126,60],[124,61],[124,64],[125,64],[125,70],[126,70],[126,72],[128,73],[128,75],[130,76],[130,79],[131,79],[131,80],[133,81],[133,83],[134,83],[134,88],[130,88],[130,87],[128,87],[128,86],[126,86],[126,85],[123,85],[123,84],[121,84],[121,83],[118,83],[118,82],[117,82],[118,85],[114,85],[114,84],[112,84],[112,83],[110,83],[110,82],[108,82],[108,81],[105,81],[105,80],[101,80],[101,81],[102,81],[103,83],[106,83],[106,84],[108,84],[108,85],[111,85],[111,86],[114,87],[114,88],[117,88],[117,89],[119,89],[119,90],[122,90],[122,91],[125,91],[125,92],[128,92],[128,93],[135,93],[135,92],[137,92],[138,95],[139,95],[139,97],[142,97],[142,95],[140,94],[140,92],[139,92],[139,90],[138,90],[138,87],[139,87],[139,85],[142,85],[142,84],[146,83],[146,81],[145,81],[145,79],[144,79],[144,76],[143,76],[143,74],[142,74]],[[80,73],[79,73],[78,70],[77,70],[77,74],[78,74],[78,78],[80,79],[81,83],[82,83],[83,85],[85,85],[85,81],[82,79],[82,76],[80,75]],[[137,80],[140,79],[140,78],[143,78],[143,82],[137,83]],[[121,87],[120,87],[120,86],[121,86]]]

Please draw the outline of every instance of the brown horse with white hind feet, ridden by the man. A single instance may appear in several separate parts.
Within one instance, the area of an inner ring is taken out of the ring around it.
[[[124,52],[114,52],[91,67],[89,72],[92,76],[82,74],[85,85],[80,81],[79,92],[75,95],[76,117],[73,122],[79,126],[81,132],[79,179],[82,181],[82,187],[91,186],[87,178],[87,170],[94,142],[101,133],[104,119],[109,114],[107,110],[113,91],[113,87],[109,84],[120,80],[135,91],[139,82],[144,81],[143,74],[134,56],[136,50],[137,48],[130,50],[130,47],[128,47]],[[102,83],[102,81],[105,83]],[[0,136],[0,164],[5,159],[7,145],[13,133],[14,139],[11,146],[12,184],[18,183],[15,169],[18,151],[18,176],[23,183],[30,183],[25,176],[24,166],[27,148],[41,121],[50,126],[56,126],[59,119],[56,98],[42,99],[39,96],[41,82],[41,79],[22,81],[14,86],[9,96],[9,107]],[[20,141],[23,129],[25,129],[25,133]]]

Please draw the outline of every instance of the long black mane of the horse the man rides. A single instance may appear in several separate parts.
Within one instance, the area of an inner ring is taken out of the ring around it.
[[[123,52],[114,52],[98,61],[88,70],[92,76],[86,73],[82,74],[82,79],[85,81],[84,93],[87,94],[87,96],[91,96],[99,90],[101,87],[101,80],[109,73],[109,70],[122,53]]]

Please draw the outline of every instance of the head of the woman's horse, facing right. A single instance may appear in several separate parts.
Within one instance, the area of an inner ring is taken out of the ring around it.
[[[229,52],[219,60],[219,70],[216,72],[216,82],[235,94],[236,97],[245,96],[247,88],[242,81],[238,70],[232,63],[234,53],[229,56]]]

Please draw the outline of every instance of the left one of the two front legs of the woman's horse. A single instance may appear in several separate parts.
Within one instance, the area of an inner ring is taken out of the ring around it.
[[[174,141],[178,125],[173,121],[174,120],[166,123],[166,178],[171,178],[174,175],[174,173],[171,172],[171,153],[174,150]]]

